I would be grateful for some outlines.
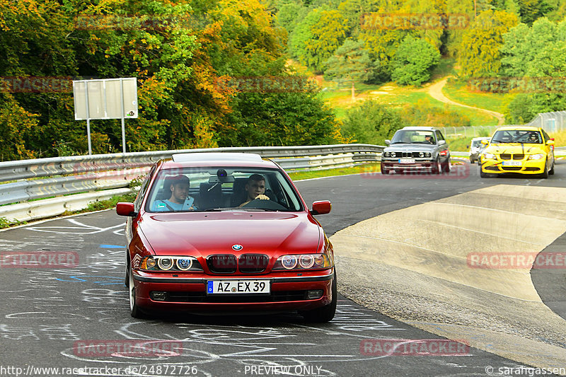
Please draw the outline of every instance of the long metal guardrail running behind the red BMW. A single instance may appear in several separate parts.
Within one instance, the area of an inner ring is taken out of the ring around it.
[[[379,161],[384,146],[340,144],[323,146],[259,146],[214,149],[185,149],[115,153],[94,156],[68,156],[0,162],[0,204],[25,202],[58,195],[128,187],[144,175],[151,165],[173,153],[244,152],[272,158],[285,170],[328,169],[355,163]],[[29,179],[54,177],[44,179]],[[41,203],[37,203],[41,204]],[[16,205],[16,204],[14,204]],[[0,207],[0,217],[11,210]],[[29,213],[28,213],[29,214]]]

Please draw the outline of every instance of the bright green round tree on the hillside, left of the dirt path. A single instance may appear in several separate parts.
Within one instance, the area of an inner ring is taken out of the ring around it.
[[[440,52],[426,40],[408,35],[391,60],[391,79],[400,85],[420,85],[430,79]]]

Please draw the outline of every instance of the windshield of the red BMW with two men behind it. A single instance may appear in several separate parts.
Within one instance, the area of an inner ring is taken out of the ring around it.
[[[287,178],[275,169],[175,168],[161,170],[146,211],[302,211]]]

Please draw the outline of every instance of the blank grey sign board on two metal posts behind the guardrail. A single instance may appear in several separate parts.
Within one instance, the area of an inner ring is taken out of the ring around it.
[[[83,93],[84,92],[84,93]],[[126,153],[125,118],[137,118],[137,79],[73,81],[75,120],[86,120],[88,154],[92,154],[91,119],[122,120],[122,152]]]

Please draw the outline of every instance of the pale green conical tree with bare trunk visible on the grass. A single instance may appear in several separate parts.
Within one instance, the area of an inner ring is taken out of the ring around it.
[[[371,69],[371,59],[364,49],[364,42],[345,40],[325,65],[328,66],[325,77],[338,82],[350,82],[353,102],[355,100],[354,83],[367,79]]]

